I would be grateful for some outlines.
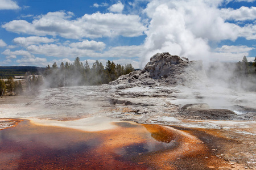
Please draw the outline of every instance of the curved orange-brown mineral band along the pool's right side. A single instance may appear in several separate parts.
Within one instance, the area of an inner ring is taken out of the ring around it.
[[[185,131],[160,125],[144,127],[159,141],[168,142],[168,136],[172,136],[172,141],[176,143],[174,148],[151,152],[142,157],[144,162],[156,169],[218,169],[226,164],[225,160],[213,155],[204,142]],[[166,135],[162,135],[163,132]]]

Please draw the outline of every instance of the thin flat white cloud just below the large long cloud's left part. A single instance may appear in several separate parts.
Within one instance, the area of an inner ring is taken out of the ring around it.
[[[17,45],[21,46],[29,46],[33,44],[41,44],[41,43],[50,43],[55,42],[55,39],[48,39],[47,37],[38,37],[38,36],[31,36],[31,37],[16,37],[13,42]]]

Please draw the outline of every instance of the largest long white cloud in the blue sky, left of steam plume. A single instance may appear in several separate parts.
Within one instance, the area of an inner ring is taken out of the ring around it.
[[[123,15],[100,12],[85,14],[81,18],[71,20],[71,12],[48,12],[31,23],[26,20],[13,20],[2,25],[7,31],[27,33],[37,36],[61,36],[68,39],[89,37],[136,37],[143,35],[146,27],[138,15]]]

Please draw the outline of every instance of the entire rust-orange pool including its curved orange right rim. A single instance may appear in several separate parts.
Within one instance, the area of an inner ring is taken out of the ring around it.
[[[160,125],[114,122],[88,132],[30,121],[0,131],[0,169],[214,169],[214,157],[197,137]]]

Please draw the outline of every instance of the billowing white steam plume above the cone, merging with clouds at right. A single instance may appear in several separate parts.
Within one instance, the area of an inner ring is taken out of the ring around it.
[[[145,32],[146,51],[141,57],[142,67],[157,52],[170,52],[189,59],[204,60],[216,58],[217,55],[221,56],[218,58],[227,58],[227,60],[232,56],[237,59],[238,55],[248,54],[247,50],[251,48],[245,49],[244,46],[238,46],[237,50],[241,50],[240,53],[212,52],[209,42],[234,41],[238,37],[245,37],[247,40],[256,39],[254,24],[240,26],[228,22],[233,14],[236,14],[237,20],[254,20],[255,8],[220,10],[219,6],[223,2],[222,0],[152,0],[148,3],[144,12],[151,20]],[[226,16],[224,16],[225,12]],[[224,48],[223,46],[222,50]],[[232,47],[229,48],[231,50]]]

